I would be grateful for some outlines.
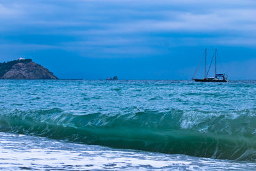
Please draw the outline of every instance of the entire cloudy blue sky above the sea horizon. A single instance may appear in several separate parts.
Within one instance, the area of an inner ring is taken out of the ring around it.
[[[256,79],[255,16],[255,0],[0,0],[0,62],[31,58],[59,78],[191,79],[217,48],[218,72]]]

